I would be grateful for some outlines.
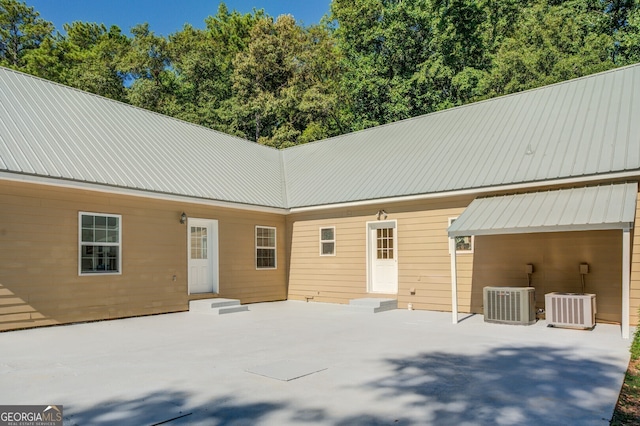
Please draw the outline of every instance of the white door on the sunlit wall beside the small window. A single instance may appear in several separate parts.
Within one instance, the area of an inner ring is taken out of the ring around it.
[[[398,292],[396,222],[368,223],[369,291]]]

